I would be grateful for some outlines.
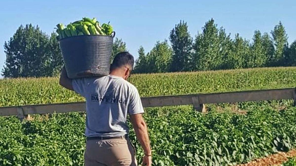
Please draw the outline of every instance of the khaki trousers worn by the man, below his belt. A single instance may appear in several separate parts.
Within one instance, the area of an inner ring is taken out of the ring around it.
[[[85,166],[137,166],[135,148],[127,138],[87,140]]]

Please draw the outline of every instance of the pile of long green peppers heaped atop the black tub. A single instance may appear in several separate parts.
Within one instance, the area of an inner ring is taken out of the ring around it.
[[[108,24],[104,23],[101,26],[96,18],[90,19],[87,17],[70,23],[66,27],[60,23],[55,29],[59,34],[59,40],[78,35],[112,35],[113,32],[113,27],[110,25],[110,22],[108,22]]]

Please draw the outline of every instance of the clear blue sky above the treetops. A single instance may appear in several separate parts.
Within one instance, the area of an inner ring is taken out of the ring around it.
[[[0,9],[0,71],[6,56],[4,42],[22,24],[39,25],[50,34],[57,23],[67,24],[82,17],[96,17],[110,21],[116,37],[126,42],[128,50],[138,57],[142,45],[150,51],[157,40],[168,39],[170,30],[185,20],[194,37],[202,26],[213,18],[232,37],[239,33],[251,39],[254,30],[270,32],[281,21],[289,36],[289,44],[296,40],[296,1],[276,0],[150,0],[150,1],[67,1],[67,0],[6,0]],[[0,76],[1,77],[1,76]]]

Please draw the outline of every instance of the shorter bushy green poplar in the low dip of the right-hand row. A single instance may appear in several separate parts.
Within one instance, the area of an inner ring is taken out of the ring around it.
[[[235,35],[232,52],[227,58],[228,69],[240,69],[245,67],[245,58],[250,54],[250,44],[239,34]]]

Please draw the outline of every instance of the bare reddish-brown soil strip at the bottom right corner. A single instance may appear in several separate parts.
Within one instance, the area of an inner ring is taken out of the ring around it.
[[[292,149],[289,152],[279,152],[277,154],[271,154],[268,157],[255,159],[246,164],[240,164],[237,166],[279,166],[283,162],[288,160],[288,157],[295,157],[296,149]]]

